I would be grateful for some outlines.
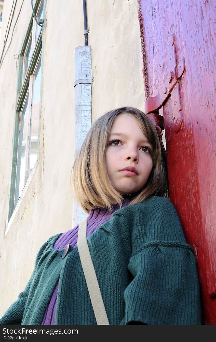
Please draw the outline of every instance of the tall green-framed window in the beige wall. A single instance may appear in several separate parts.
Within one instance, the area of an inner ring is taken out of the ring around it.
[[[8,221],[31,170],[38,162],[44,0],[35,1],[34,13],[40,25],[32,14],[19,53]]]

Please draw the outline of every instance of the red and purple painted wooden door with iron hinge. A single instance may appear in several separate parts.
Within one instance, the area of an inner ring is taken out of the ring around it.
[[[140,0],[146,113],[162,108],[170,200],[197,258],[204,324],[216,324],[215,2]],[[161,114],[161,109],[160,113]]]

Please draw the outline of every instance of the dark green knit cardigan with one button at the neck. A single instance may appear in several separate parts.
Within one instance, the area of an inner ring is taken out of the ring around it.
[[[0,324],[40,325],[58,281],[56,324],[97,324],[78,249],[61,258],[64,250],[53,248],[59,235],[39,250]],[[87,241],[110,324],[202,324],[196,261],[170,201],[151,196],[123,207]]]

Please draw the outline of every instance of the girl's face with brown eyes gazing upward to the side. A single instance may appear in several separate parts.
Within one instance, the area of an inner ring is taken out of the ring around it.
[[[106,150],[106,168],[121,195],[141,189],[152,171],[151,145],[133,115],[115,117]],[[130,170],[124,170],[129,168]],[[133,168],[133,169],[132,169]]]

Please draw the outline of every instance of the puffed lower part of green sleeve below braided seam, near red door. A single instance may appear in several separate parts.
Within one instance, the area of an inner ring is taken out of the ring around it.
[[[121,324],[202,324],[196,262],[189,247],[143,246],[131,256],[128,269],[134,279],[124,292]]]

